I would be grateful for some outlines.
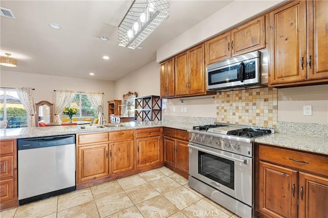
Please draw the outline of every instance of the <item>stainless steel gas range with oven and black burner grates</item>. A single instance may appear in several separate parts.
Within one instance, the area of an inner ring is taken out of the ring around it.
[[[216,123],[189,132],[189,186],[241,217],[254,217],[254,138],[274,128]]]

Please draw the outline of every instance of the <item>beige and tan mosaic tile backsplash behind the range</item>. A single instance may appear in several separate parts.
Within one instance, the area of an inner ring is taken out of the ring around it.
[[[218,92],[216,122],[276,127],[278,94],[276,88],[263,87]]]

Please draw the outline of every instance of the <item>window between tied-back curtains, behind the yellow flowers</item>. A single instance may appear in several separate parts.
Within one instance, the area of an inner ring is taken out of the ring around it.
[[[76,93],[70,107],[78,108],[76,116],[97,116],[96,108],[93,108],[85,93]]]

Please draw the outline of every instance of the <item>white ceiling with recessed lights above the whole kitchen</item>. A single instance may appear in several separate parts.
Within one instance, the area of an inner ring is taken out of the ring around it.
[[[171,0],[170,17],[141,43],[144,49],[132,50],[117,45],[117,27],[131,1],[2,0],[1,7],[16,19],[1,16],[1,56],[11,53],[18,66],[1,70],[116,81],[155,60],[159,47],[231,2]],[[61,30],[50,28],[50,22]]]

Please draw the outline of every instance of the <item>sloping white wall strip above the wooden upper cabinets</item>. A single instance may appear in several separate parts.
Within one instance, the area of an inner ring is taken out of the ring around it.
[[[182,33],[169,43],[160,47],[156,53],[156,61],[161,62],[183,50],[192,47],[212,36],[223,32],[238,23],[267,11],[284,1],[234,1],[208,18],[199,22],[193,28]]]

